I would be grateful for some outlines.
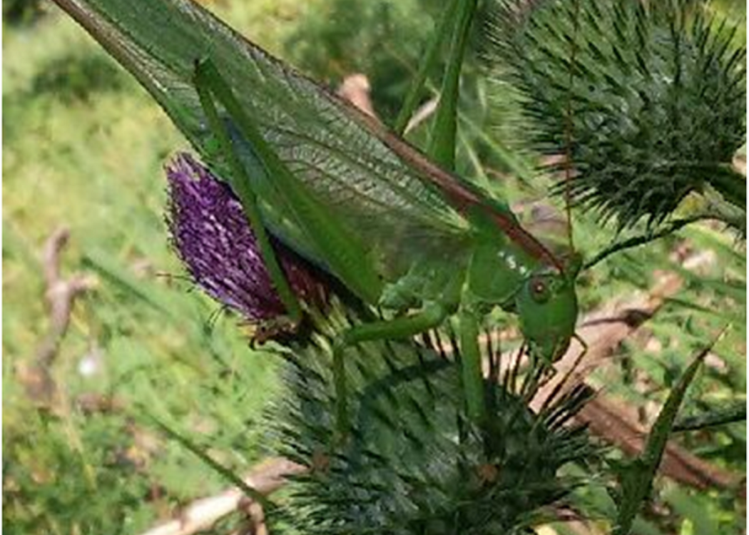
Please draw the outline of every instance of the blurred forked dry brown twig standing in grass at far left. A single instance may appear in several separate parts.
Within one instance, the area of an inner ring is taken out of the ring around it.
[[[41,255],[44,275],[49,328],[37,348],[30,366],[20,369],[19,375],[26,393],[35,403],[49,406],[55,398],[56,386],[52,365],[58,356],[62,339],[70,326],[70,314],[76,297],[94,288],[96,280],[89,275],[74,273],[61,276],[61,253],[70,238],[70,231],[61,227],[47,238]]]

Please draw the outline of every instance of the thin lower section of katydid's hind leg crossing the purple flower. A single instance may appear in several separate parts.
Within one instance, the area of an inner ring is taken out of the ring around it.
[[[249,180],[244,166],[237,156],[237,151],[234,150],[234,145],[231,142],[226,125],[219,117],[214,97],[225,107],[231,106],[232,109],[239,109],[239,106],[235,101],[228,102],[229,100],[234,100],[234,95],[216,68],[210,63],[210,60],[195,62],[194,83],[195,90],[198,92],[198,98],[207,118],[208,127],[218,139],[222,154],[225,155],[229,166],[231,166],[233,175],[229,181],[231,189],[239,198],[250,226],[252,226],[252,232],[255,233],[261,257],[268,270],[270,280],[273,282],[289,318],[291,318],[294,324],[299,324],[302,319],[300,303],[294,295],[294,291],[291,290],[291,285],[289,285],[276,257],[276,253],[270,244],[270,239],[260,214],[258,197],[255,191],[252,190],[252,182]]]

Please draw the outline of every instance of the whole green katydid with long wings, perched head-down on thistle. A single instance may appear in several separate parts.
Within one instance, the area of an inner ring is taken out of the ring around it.
[[[551,363],[568,347],[577,269],[526,232],[500,199],[191,0],[55,1],[139,79],[231,185],[294,321],[301,309],[266,232],[365,303],[392,312],[339,340],[339,418],[347,345],[407,338],[457,315],[464,396],[477,422],[485,400],[476,333],[491,309],[518,315],[533,357]]]

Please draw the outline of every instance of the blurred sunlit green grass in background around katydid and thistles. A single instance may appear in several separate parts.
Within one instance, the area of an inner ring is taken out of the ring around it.
[[[740,4],[710,8],[743,24]],[[332,86],[348,73],[366,73],[386,121],[439,6],[437,0],[210,4],[252,40]],[[184,139],[127,74],[48,4],[6,2],[3,12],[3,527],[19,534],[136,534],[225,486],[144,415],[210,445],[213,456],[243,473],[274,449],[260,421],[281,391],[277,366],[248,347],[237,318],[192,291],[169,250],[163,164],[187,149]],[[478,76],[481,51],[477,34],[464,80],[458,167],[513,202],[545,199],[549,178],[530,172],[535,162],[513,145],[506,127],[515,114],[512,100],[501,85]],[[416,141],[422,135],[411,134]],[[615,229],[574,215],[583,252],[613,239]],[[89,273],[97,286],[76,302],[52,369],[61,396],[51,410],[40,410],[19,377],[49,328],[38,253],[60,226],[70,229],[64,276]],[[688,253],[709,253],[712,261],[691,273],[682,266]],[[728,321],[733,329],[715,347],[686,411],[740,401],[745,392],[745,252],[721,226],[694,226],[604,262],[580,282],[584,309],[647,290],[664,271],[685,277],[678,298],[617,350],[615,365],[590,378],[640,408],[644,424],[652,423],[689,357]],[[91,410],[86,399],[107,403]],[[720,468],[745,472],[743,423],[678,439]],[[637,533],[743,529],[735,487],[695,492],[664,479],[656,491]],[[606,503],[605,493],[588,499]]]

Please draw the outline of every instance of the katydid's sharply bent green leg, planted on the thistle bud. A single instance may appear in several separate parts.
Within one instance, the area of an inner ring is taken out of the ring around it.
[[[348,432],[348,391],[344,352],[350,345],[377,340],[404,339],[439,327],[449,315],[441,303],[428,303],[419,312],[386,321],[375,321],[345,330],[333,346],[333,382],[336,387],[336,438]]]

